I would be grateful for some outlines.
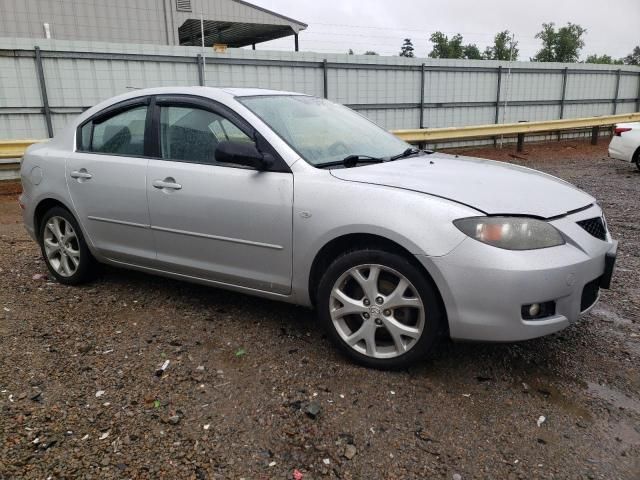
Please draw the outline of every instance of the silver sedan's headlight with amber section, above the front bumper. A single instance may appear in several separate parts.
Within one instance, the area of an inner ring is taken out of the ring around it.
[[[553,225],[535,218],[470,217],[453,223],[471,238],[507,250],[535,250],[565,243]]]

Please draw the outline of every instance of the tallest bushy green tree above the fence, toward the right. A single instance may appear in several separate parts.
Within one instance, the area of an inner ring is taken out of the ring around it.
[[[577,62],[584,47],[582,36],[587,30],[575,23],[567,23],[556,30],[553,22],[543,23],[536,38],[542,41],[542,48],[531,60],[534,62]]]

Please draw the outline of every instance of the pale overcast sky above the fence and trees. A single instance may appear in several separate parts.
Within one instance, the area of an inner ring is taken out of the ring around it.
[[[405,37],[416,56],[431,51],[431,32],[461,33],[481,51],[500,30],[515,33],[520,59],[535,55],[535,34],[543,22],[578,23],[587,29],[584,59],[592,53],[615,58],[640,44],[640,0],[249,0],[295,18],[309,27],[300,34],[301,50],[356,53],[375,50],[397,55]],[[293,38],[259,44],[258,49],[292,50]]]

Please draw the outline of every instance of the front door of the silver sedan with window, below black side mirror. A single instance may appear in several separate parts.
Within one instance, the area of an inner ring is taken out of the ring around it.
[[[288,167],[276,162],[274,170],[257,171],[217,162],[220,141],[258,137],[213,101],[157,97],[154,118],[160,158],[149,161],[147,191],[161,268],[289,293],[293,175]]]

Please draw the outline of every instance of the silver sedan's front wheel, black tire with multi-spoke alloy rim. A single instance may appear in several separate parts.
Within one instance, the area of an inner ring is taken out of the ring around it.
[[[405,257],[348,252],[320,281],[318,314],[338,348],[367,367],[397,369],[423,359],[444,325],[435,286]]]

